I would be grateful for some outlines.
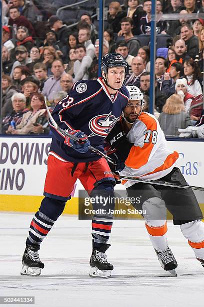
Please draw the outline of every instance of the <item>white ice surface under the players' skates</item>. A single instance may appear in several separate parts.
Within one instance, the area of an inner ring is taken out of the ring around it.
[[[39,307],[203,305],[204,268],[172,222],[167,223],[168,245],[178,262],[178,277],[160,267],[143,221],[117,220],[107,251],[112,276],[90,278],[90,221],[65,215],[41,244],[41,275],[25,277],[20,276],[21,256],[32,216],[0,213],[0,296],[35,296],[33,306]]]

